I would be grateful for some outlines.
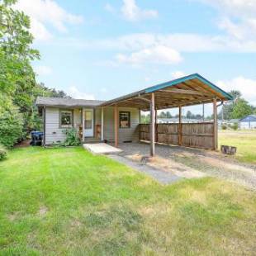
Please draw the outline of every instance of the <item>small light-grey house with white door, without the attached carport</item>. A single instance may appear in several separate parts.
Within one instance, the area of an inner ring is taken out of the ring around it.
[[[114,108],[102,107],[102,101],[38,97],[36,105],[43,108],[44,145],[63,142],[64,130],[75,128],[83,142],[113,142]],[[139,140],[140,110],[136,107],[119,107],[120,142]]]

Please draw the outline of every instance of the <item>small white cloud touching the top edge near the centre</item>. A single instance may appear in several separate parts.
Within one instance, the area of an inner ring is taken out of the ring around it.
[[[156,10],[140,9],[140,7],[136,5],[135,0],[123,0],[121,12],[128,21],[140,21],[143,19],[155,18],[159,15]]]

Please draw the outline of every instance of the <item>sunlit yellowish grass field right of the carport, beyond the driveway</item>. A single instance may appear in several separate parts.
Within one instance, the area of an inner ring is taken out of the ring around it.
[[[221,130],[219,145],[237,147],[236,159],[256,164],[256,130]]]

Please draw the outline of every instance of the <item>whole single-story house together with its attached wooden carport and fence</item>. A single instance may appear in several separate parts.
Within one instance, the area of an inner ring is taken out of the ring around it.
[[[230,94],[193,73],[107,102],[38,97],[36,106],[43,115],[44,145],[63,141],[63,130],[73,127],[82,141],[115,142],[117,146],[119,142],[150,140],[150,152],[154,155],[154,143],[159,140],[216,149],[217,102],[230,99]],[[182,124],[182,107],[209,102],[213,104],[213,122]],[[156,126],[156,111],[173,107],[179,109],[178,124],[168,124],[168,129]],[[147,127],[140,126],[140,111],[150,111],[151,123]]]

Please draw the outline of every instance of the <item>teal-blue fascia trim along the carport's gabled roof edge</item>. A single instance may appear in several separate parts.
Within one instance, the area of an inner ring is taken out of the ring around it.
[[[166,87],[170,87],[170,86],[174,86],[174,85],[177,85],[178,83],[183,83],[183,82],[186,82],[187,80],[191,80],[191,79],[195,79],[195,78],[200,80],[202,83],[206,83],[206,85],[208,85],[210,88],[212,88],[216,92],[219,92],[226,99],[228,99],[228,100],[232,100],[233,99],[233,97],[229,93],[223,91],[222,89],[217,87],[215,84],[213,84],[210,81],[208,81],[206,78],[203,78],[199,73],[192,73],[192,74],[190,74],[190,75],[188,75],[186,77],[183,77],[183,78],[178,78],[178,79],[175,79],[175,80],[168,81],[166,83],[160,83],[160,84],[154,85],[153,87],[146,88],[145,92],[146,93],[148,93],[148,92],[156,92],[156,91],[158,91],[160,89],[163,89],[163,88],[166,88]]]

